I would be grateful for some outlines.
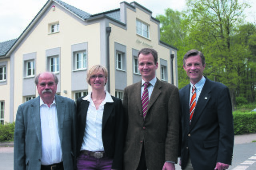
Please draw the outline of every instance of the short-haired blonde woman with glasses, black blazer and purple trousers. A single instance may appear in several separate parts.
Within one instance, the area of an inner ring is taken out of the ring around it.
[[[92,91],[77,99],[78,170],[121,170],[123,162],[123,106],[104,87],[108,70],[95,65],[87,72]]]

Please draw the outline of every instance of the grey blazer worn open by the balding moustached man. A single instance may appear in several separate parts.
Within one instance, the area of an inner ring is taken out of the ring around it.
[[[62,159],[65,170],[76,167],[76,104],[55,95]],[[42,134],[40,96],[18,107],[14,131],[14,170],[40,170]]]

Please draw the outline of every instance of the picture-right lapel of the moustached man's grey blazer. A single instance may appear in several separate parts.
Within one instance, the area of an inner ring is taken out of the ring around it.
[[[59,136],[60,136],[60,142],[62,142],[62,134],[63,134],[63,122],[65,115],[64,111],[66,110],[66,106],[63,104],[62,98],[60,98],[58,95],[55,95],[55,102],[57,107],[57,117],[58,117],[58,129],[59,129]]]

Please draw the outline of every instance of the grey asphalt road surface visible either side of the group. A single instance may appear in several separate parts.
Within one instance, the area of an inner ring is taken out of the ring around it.
[[[228,170],[256,170],[256,134],[235,136],[232,166]],[[177,164],[176,170],[181,170]],[[0,147],[0,170],[13,170],[13,147]]]

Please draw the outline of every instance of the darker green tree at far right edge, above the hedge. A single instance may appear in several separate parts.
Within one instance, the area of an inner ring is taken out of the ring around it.
[[[256,26],[247,23],[239,26],[236,32],[232,39],[232,52],[237,54],[240,61],[236,66],[239,76],[236,96],[254,102],[256,95]]]

